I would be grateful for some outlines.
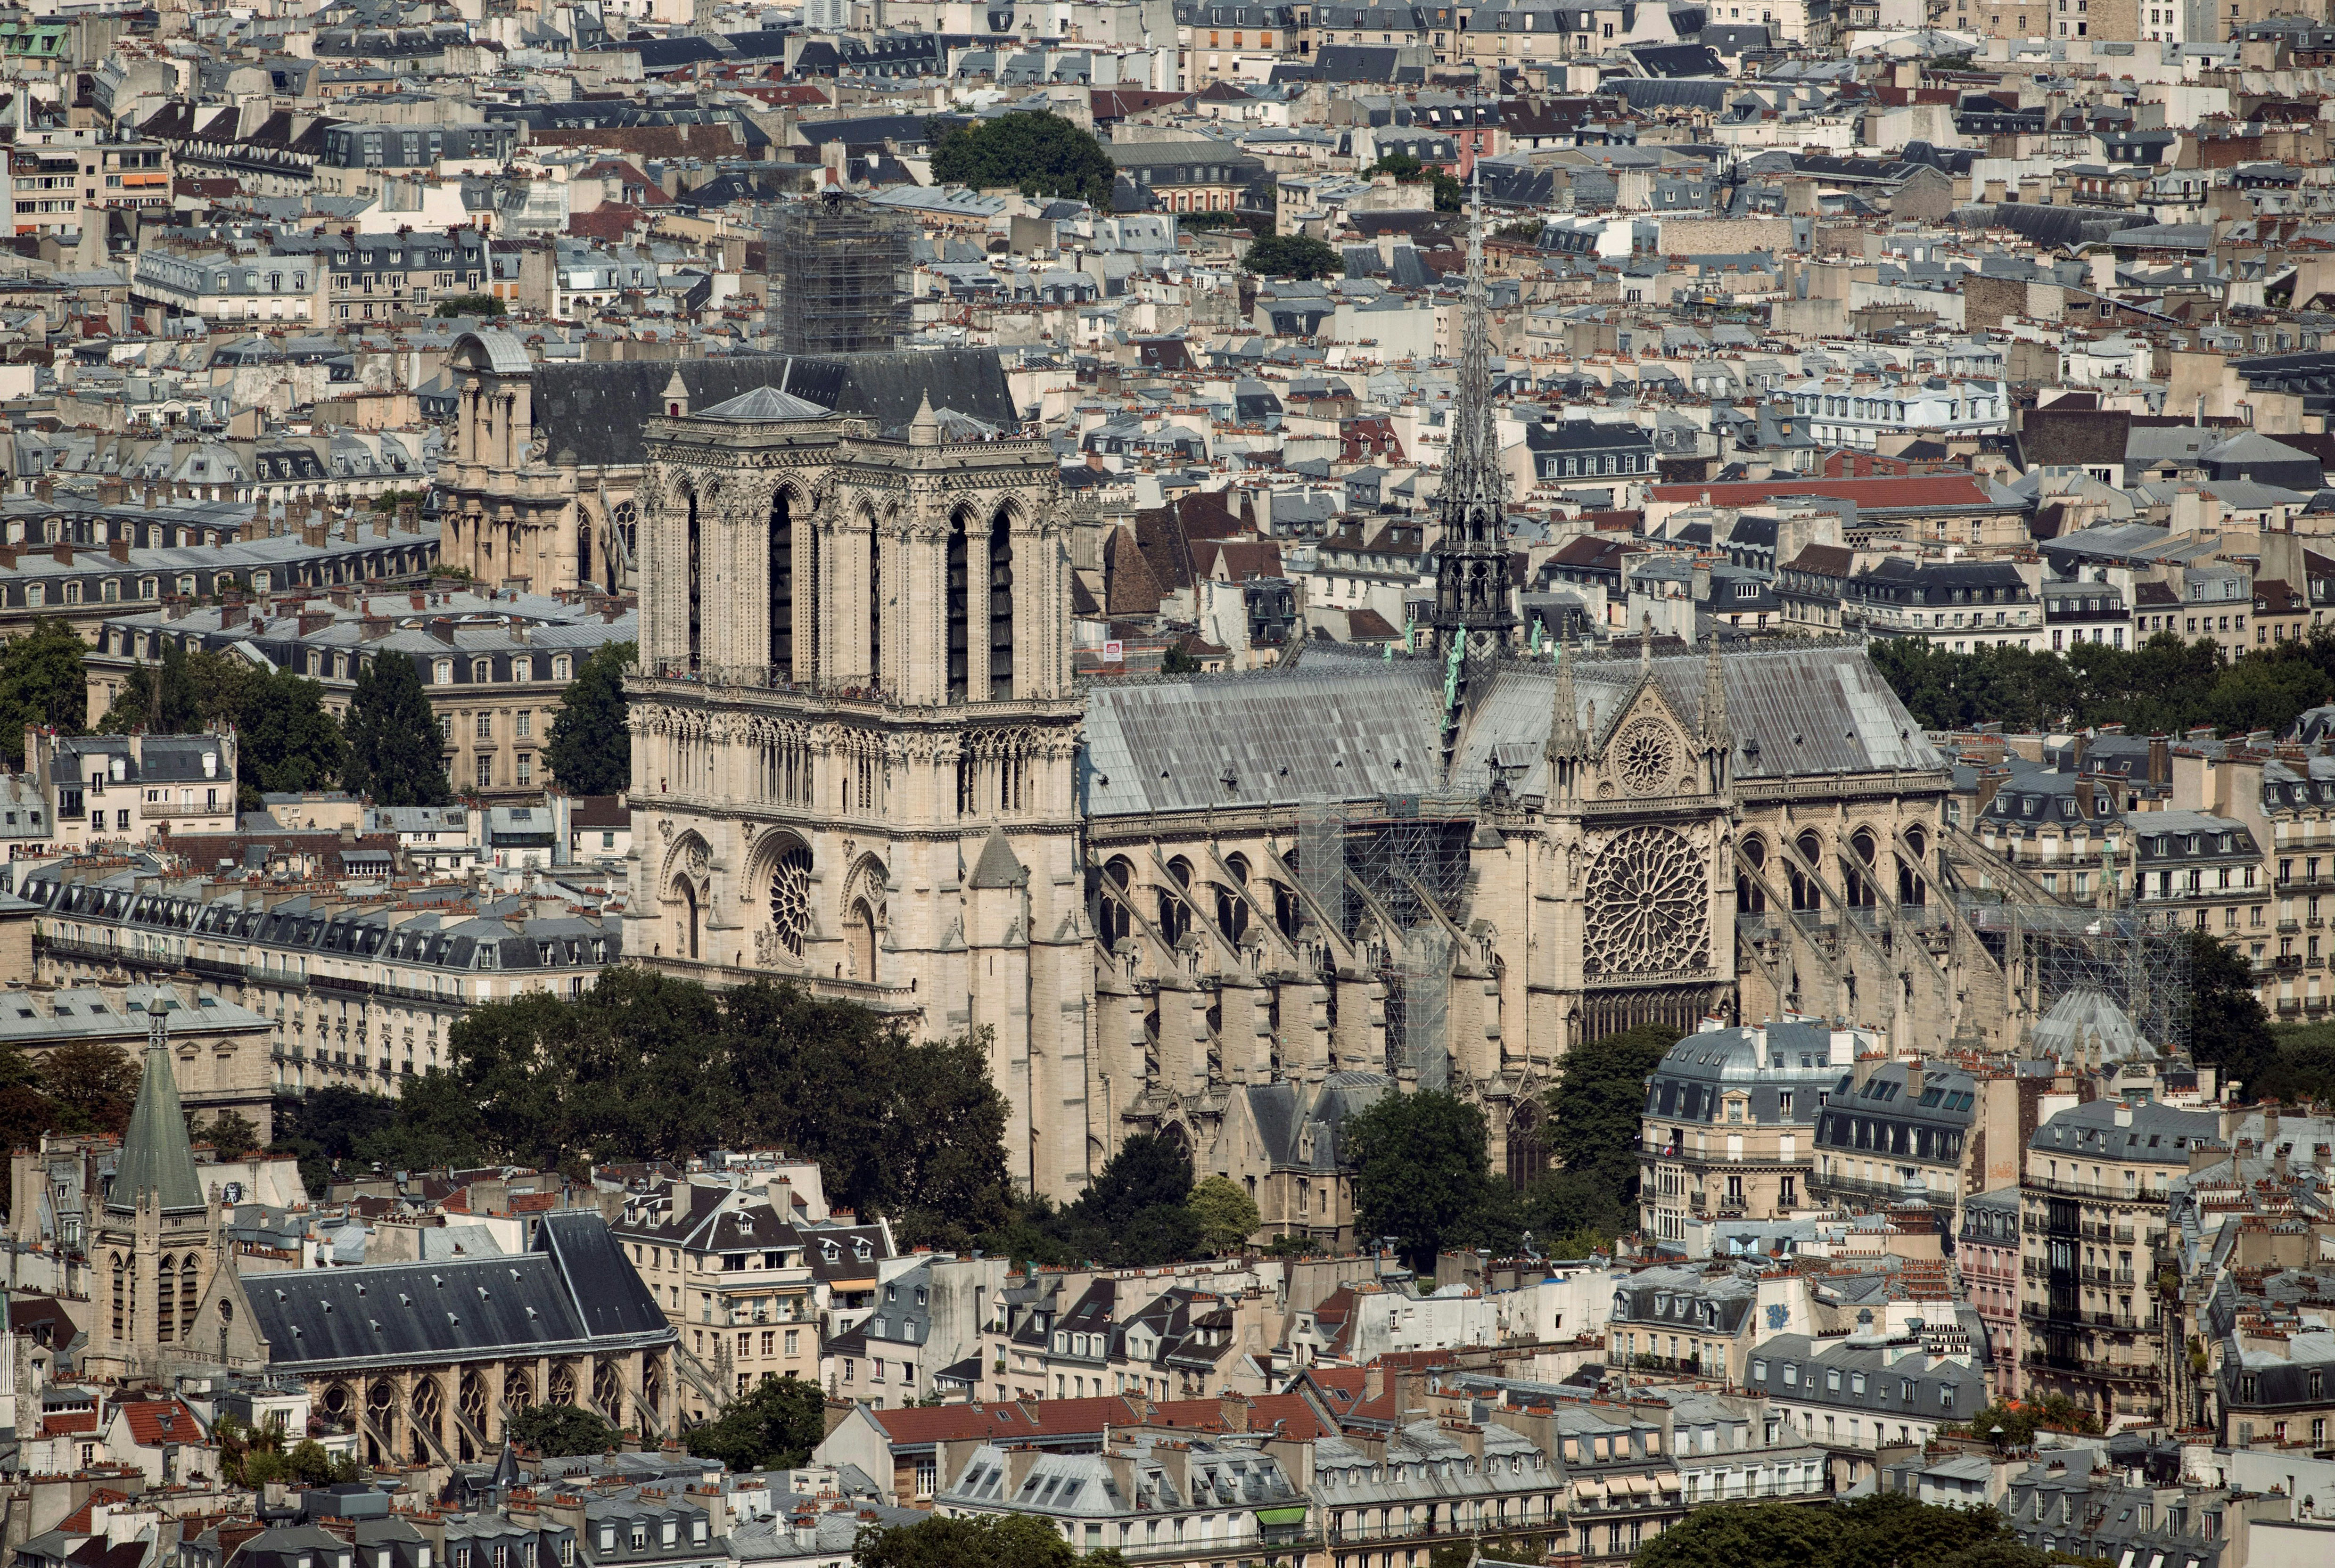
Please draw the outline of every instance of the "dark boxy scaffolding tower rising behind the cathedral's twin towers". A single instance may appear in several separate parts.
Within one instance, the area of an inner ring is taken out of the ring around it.
[[[857,196],[789,203],[771,226],[787,355],[890,352],[908,336],[908,224]]]

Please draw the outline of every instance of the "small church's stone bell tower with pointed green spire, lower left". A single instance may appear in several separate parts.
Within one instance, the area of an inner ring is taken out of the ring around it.
[[[170,1059],[173,996],[147,996],[145,1076],[121,1160],[91,1227],[93,1302],[86,1365],[96,1377],[154,1377],[194,1330],[219,1267],[219,1225],[203,1195]]]

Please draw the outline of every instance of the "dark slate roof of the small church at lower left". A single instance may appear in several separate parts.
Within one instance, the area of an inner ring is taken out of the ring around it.
[[[318,1374],[661,1346],[675,1339],[598,1213],[546,1213],[516,1258],[255,1274],[273,1367]]]

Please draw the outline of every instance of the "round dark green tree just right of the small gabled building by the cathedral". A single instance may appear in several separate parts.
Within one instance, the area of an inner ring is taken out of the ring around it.
[[[1357,1230],[1394,1237],[1413,1269],[1434,1269],[1452,1246],[1515,1246],[1515,1197],[1492,1181],[1476,1106],[1441,1090],[1387,1094],[1347,1120],[1343,1143]]]

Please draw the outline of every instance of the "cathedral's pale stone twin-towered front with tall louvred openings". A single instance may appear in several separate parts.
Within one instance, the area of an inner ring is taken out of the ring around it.
[[[983,359],[964,401],[995,411]],[[957,357],[813,364],[831,404],[691,411],[675,378],[647,427],[628,952],[985,1038],[1016,1178],[1079,1185],[1090,931],[1053,450],[934,411],[946,376],[915,371]]]

